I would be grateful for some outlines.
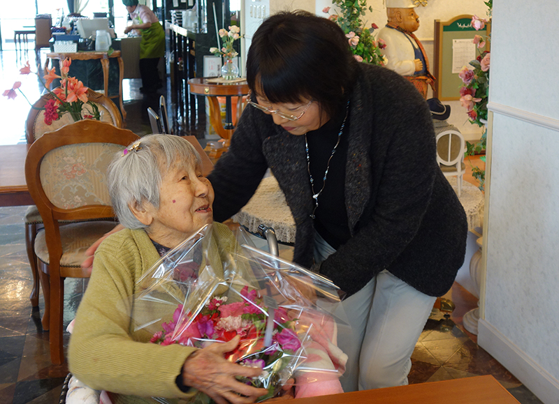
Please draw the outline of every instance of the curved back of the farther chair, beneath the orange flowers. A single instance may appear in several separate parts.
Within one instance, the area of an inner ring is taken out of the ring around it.
[[[106,96],[103,96],[103,94],[97,93],[92,89],[87,91],[87,96],[89,100],[99,108],[99,114],[101,114],[101,118],[99,120],[101,122],[106,122],[116,126],[117,128],[122,128],[122,117],[117,105],[115,105],[110,98],[107,98]],[[41,96],[41,98],[34,103],[34,108],[31,108],[29,111],[26,124],[27,143],[33,143],[46,132],[52,132],[62,126],[74,123],[71,114],[66,113],[62,114],[56,121],[52,121],[51,124],[45,124],[45,110],[37,110],[36,108],[44,107],[45,103],[51,98],[52,96],[48,93]],[[82,116],[91,114],[91,109],[92,107],[90,105],[84,104],[82,106]]]

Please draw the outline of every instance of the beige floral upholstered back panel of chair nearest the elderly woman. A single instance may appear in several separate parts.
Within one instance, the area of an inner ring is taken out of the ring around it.
[[[123,147],[110,143],[70,144],[49,151],[41,162],[41,184],[55,207],[110,206],[106,171]]]

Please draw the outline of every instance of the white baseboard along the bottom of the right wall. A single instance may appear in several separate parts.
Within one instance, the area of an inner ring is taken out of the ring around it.
[[[539,366],[486,320],[479,320],[477,343],[545,404],[559,404],[559,380]],[[555,350],[556,347],[549,347]]]

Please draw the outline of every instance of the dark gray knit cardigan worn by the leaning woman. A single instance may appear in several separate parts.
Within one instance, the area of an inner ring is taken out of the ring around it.
[[[350,95],[345,206],[351,239],[320,273],[351,295],[383,269],[441,296],[464,261],[464,209],[435,160],[433,120],[412,84],[361,63]],[[327,84],[326,84],[327,85]],[[231,147],[210,174],[215,220],[243,207],[270,167],[297,226],[293,260],[313,264],[314,207],[305,139],[247,107]]]

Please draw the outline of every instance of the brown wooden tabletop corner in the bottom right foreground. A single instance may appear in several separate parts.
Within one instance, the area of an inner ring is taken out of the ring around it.
[[[465,377],[286,401],[289,404],[519,404],[493,376]]]

